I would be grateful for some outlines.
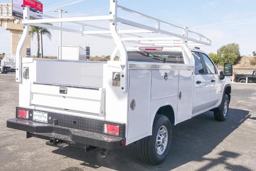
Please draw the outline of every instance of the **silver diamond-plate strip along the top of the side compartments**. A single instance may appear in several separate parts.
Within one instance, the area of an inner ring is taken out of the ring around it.
[[[195,67],[187,64],[159,64],[151,62],[129,62],[129,70],[194,70]]]

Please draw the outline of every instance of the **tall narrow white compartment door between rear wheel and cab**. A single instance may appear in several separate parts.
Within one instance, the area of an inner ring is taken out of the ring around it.
[[[178,97],[177,123],[191,118],[192,98],[193,98],[193,71],[180,71],[178,95],[182,92],[182,97]]]

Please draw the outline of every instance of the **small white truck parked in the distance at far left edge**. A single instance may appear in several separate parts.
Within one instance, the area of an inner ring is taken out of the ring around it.
[[[1,62],[1,74],[7,74],[8,72],[16,71],[16,56],[5,55]]]

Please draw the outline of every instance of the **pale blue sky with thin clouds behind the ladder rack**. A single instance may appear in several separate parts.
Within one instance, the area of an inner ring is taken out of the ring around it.
[[[0,0],[1,3],[10,0]],[[54,9],[63,8],[68,11],[64,17],[106,15],[109,12],[109,0],[41,0],[44,14],[58,16]],[[203,47],[206,52],[216,52],[222,45],[237,43],[241,55],[250,55],[256,50],[256,1],[255,0],[118,0],[118,4],[165,20],[178,26],[188,26],[190,30],[199,32],[212,40],[212,46]],[[125,12],[120,15],[129,20],[154,25]],[[95,23],[108,26],[108,23]],[[66,27],[73,28],[70,24]],[[79,29],[77,27],[77,29]],[[166,28],[172,29],[172,28]],[[58,31],[52,31],[52,40],[44,38],[44,54],[57,54]],[[10,52],[10,34],[0,28],[0,52]],[[92,42],[92,55],[108,55],[114,49],[111,40],[102,40],[92,36],[72,35],[64,33],[63,44],[78,44],[82,47]],[[130,46],[135,46],[131,44]],[[32,54],[36,52],[36,42],[32,41]]]

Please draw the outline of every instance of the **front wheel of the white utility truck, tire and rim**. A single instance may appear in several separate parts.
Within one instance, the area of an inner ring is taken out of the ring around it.
[[[228,116],[229,99],[228,95],[224,94],[220,111],[214,111],[214,119],[216,121],[225,121]]]

